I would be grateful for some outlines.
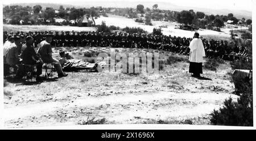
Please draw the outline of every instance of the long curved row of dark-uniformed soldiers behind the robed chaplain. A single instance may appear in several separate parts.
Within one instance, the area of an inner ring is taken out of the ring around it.
[[[7,32],[3,33],[4,42],[8,35],[14,36],[32,36],[34,39],[34,46],[45,40],[47,34],[53,35],[53,47],[114,47],[114,48],[151,48],[162,49],[164,51],[171,51],[182,55],[189,55],[189,43],[192,38],[181,38],[167,35],[153,35],[153,34],[131,34],[122,32],[69,32],[69,31],[35,31],[35,32]],[[237,44],[232,44],[218,40],[203,41],[205,52],[209,58],[220,58],[224,60],[239,60],[240,57],[251,56],[247,47],[238,47]]]

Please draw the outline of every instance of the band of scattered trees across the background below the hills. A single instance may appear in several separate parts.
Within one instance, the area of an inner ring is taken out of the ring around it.
[[[64,25],[71,24],[70,20],[73,20],[73,24],[77,26],[77,23],[86,15],[94,22],[95,18],[100,15],[108,16],[108,14],[126,16],[127,18],[136,18],[135,22],[145,23],[146,25],[152,25],[151,20],[163,20],[163,21],[177,21],[178,23],[189,24],[198,28],[212,28],[223,27],[224,22],[232,20],[232,24],[244,24],[250,25],[251,19],[237,19],[232,13],[228,15],[207,15],[200,11],[183,10],[183,11],[171,11],[160,10],[158,5],[155,4],[152,8],[143,5],[137,5],[136,9],[133,8],[103,8],[103,7],[90,7],[89,9],[76,9],[75,7],[64,8],[60,6],[59,9],[53,9],[52,7],[46,7],[42,9],[42,6],[35,5],[30,6],[5,6],[3,7],[4,18],[10,18],[10,24],[54,24],[55,18],[66,19],[63,22]]]

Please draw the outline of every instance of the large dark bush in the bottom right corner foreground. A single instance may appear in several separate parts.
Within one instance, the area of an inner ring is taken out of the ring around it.
[[[237,102],[229,98],[224,101],[224,107],[213,110],[210,114],[212,125],[253,126],[253,82],[249,83],[249,88],[240,92]]]

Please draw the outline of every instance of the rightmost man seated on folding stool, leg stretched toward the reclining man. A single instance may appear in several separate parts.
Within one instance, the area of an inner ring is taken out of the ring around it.
[[[46,35],[46,40],[43,40],[39,44],[38,53],[41,56],[41,58],[44,61],[44,63],[57,63],[57,64],[54,65],[54,67],[57,70],[58,77],[65,77],[68,74],[63,72],[59,61],[52,57],[52,45],[51,45],[51,42],[52,42],[52,35],[51,34],[47,34]]]

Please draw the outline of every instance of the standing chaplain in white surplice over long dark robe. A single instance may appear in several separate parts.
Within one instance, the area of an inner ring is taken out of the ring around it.
[[[203,42],[199,38],[199,33],[196,32],[194,34],[193,40],[189,44],[189,48],[189,73],[193,73],[193,77],[200,77],[200,74],[203,73],[202,63],[205,51]]]

